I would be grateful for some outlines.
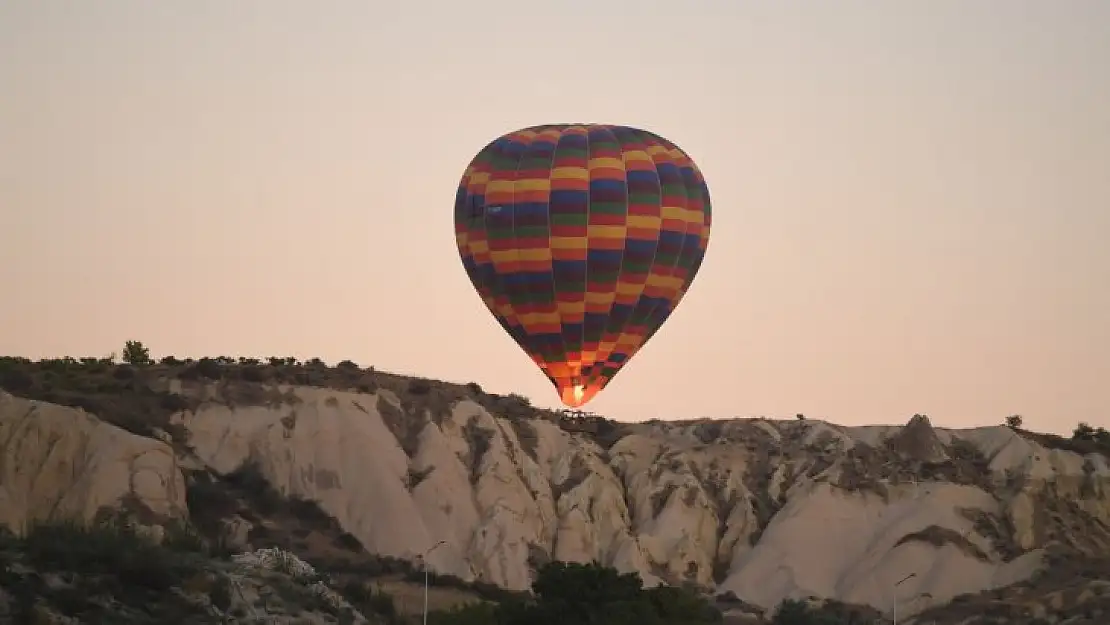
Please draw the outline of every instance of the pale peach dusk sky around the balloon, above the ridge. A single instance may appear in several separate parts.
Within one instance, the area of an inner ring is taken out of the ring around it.
[[[1110,2],[0,2],[0,354],[295,355],[558,404],[454,242],[495,137],[652,130],[714,226],[585,406],[1110,426]]]

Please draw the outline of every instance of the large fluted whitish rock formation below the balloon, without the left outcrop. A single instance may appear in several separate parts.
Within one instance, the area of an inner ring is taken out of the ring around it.
[[[1018,544],[1032,550],[1035,502],[1046,480],[1078,487],[1091,466],[1096,478],[1110,474],[1101,458],[1047,450],[1007,427],[944,431],[925,419],[906,427],[655,422],[635,426],[609,450],[536,420],[526,425],[534,448],[525,450],[512,423],[468,401],[424,425],[410,458],[383,421],[379,397],[295,394],[292,406],[210,407],[183,423],[211,465],[230,471],[259,461],[281,491],[320,501],[371,551],[416,557],[443,540],[428,557],[432,567],[513,588],[528,586],[529,554],[543,552],[597,558],[637,571],[649,584],[716,585],[765,607],[816,595],[887,609],[892,583],[912,573],[897,593],[912,604],[906,609],[917,611],[1019,581],[1039,566],[1037,550],[1003,561],[961,511],[1008,517]],[[398,406],[389,393],[381,400]],[[294,412],[295,426],[282,425]],[[484,451],[467,435],[474,427],[485,431]],[[944,464],[957,440],[990,463],[982,478],[1002,483],[1019,472],[1028,477],[1023,490],[999,501],[970,484],[895,480],[885,496],[844,487],[849,450],[887,447],[909,466]],[[411,473],[424,477],[410,490]],[[1110,522],[1106,497],[1082,505]],[[962,536],[980,555],[904,541],[930,528]]]

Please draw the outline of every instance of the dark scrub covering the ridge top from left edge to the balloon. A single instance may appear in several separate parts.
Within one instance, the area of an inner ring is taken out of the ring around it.
[[[362,367],[345,360],[334,366],[320,359],[300,361],[293,356],[154,359],[139,341],[128,341],[121,356],[63,356],[32,361],[0,356],[0,389],[13,395],[60,405],[79,407],[97,414],[140,435],[168,433],[183,444],[183,432],[170,423],[170,416],[200,404],[199,393],[174,392],[171,381],[182,389],[202,384],[219,386],[220,400],[231,405],[265,405],[281,402],[279,385],[300,385],[374,393],[386,390],[402,402],[404,413],[430,414],[443,419],[460,400],[477,402],[511,420],[527,448],[529,438],[525,420],[543,419],[568,432],[578,432],[612,446],[624,433],[622,424],[585,413],[535,407],[517,394],[485,392],[471,382],[456,384],[423,377],[398,375]]]

